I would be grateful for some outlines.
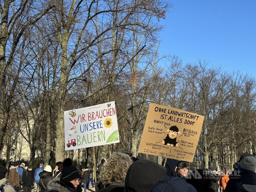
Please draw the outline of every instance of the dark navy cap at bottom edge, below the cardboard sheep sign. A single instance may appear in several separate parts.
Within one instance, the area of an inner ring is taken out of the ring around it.
[[[196,189],[180,177],[169,177],[160,180],[150,192],[196,192]]]

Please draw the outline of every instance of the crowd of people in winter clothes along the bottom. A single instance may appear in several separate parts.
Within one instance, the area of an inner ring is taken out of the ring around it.
[[[234,171],[218,172],[215,167],[195,169],[185,161],[167,159],[159,165],[146,159],[130,157],[125,153],[113,153],[102,159],[93,183],[93,169],[80,170],[71,159],[57,162],[54,170],[43,163],[34,171],[32,165],[13,162],[9,171],[0,165],[0,191],[19,192],[86,192],[91,183],[99,192],[255,192],[256,157],[244,153],[234,165]]]

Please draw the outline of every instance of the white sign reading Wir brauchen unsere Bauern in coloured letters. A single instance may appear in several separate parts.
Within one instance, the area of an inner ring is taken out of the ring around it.
[[[65,150],[119,142],[115,101],[64,111]]]

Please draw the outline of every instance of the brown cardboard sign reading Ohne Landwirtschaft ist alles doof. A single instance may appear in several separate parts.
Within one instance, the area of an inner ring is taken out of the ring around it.
[[[150,103],[139,151],[193,162],[204,116]]]

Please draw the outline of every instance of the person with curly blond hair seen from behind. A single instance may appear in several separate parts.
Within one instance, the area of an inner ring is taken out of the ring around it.
[[[123,192],[126,172],[131,164],[132,159],[129,155],[112,153],[100,172],[100,180],[106,187],[100,192]]]

